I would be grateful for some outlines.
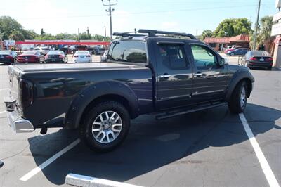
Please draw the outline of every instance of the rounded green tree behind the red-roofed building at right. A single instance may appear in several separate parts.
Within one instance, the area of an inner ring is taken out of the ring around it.
[[[247,18],[230,18],[223,20],[216,30],[214,37],[234,37],[239,34],[250,34],[251,22]]]

